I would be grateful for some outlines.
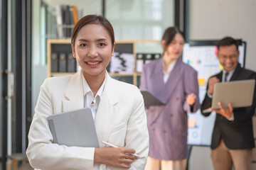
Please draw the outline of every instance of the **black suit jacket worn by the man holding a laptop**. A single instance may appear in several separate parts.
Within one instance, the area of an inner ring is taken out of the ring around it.
[[[215,74],[222,80],[223,72]],[[236,67],[230,81],[256,79],[256,73],[248,69],[243,69],[240,64]],[[208,87],[207,87],[208,89]],[[256,88],[255,88],[256,89]],[[242,90],[242,89],[241,89]],[[212,99],[208,97],[207,93],[201,105],[201,111],[210,108]],[[246,108],[234,108],[235,120],[229,121],[220,114],[216,114],[215,125],[213,128],[213,136],[211,142],[211,149],[218,147],[220,140],[223,139],[225,145],[229,149],[250,149],[255,147],[252,132],[252,115],[255,113],[256,91],[254,91],[252,106]],[[204,116],[210,113],[203,113]]]

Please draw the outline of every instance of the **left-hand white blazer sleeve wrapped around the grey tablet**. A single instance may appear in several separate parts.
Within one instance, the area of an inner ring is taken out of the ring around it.
[[[48,170],[93,169],[95,148],[66,147],[53,144],[48,126],[48,115],[53,114],[50,84],[45,81],[41,86],[35,115],[28,133],[26,154],[33,168]]]

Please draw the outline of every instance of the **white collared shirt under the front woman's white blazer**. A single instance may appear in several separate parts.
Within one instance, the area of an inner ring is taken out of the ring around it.
[[[85,77],[82,76],[82,86],[83,86],[83,96],[84,96],[84,108],[90,108],[92,111],[92,118],[95,120],[97,108],[100,103],[100,97],[102,95],[102,91],[105,86],[105,80],[103,81],[102,85],[100,86],[100,89],[97,91],[97,94],[93,96],[92,90],[90,89],[90,86],[87,84],[87,81],[85,80]]]

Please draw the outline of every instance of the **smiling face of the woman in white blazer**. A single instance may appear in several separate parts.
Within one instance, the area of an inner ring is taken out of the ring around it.
[[[107,30],[99,24],[83,26],[73,48],[73,56],[85,78],[105,77],[105,70],[114,55],[114,45]]]

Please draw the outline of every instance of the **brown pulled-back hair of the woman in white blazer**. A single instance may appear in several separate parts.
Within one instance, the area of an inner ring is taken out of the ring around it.
[[[114,45],[114,29],[110,23],[104,16],[97,16],[97,15],[87,15],[82,17],[78,23],[75,25],[73,33],[71,35],[71,44],[75,45],[75,38],[78,35],[79,30],[86,26],[87,24],[99,24],[103,26],[107,32],[110,34],[110,38],[112,40],[112,45]]]

